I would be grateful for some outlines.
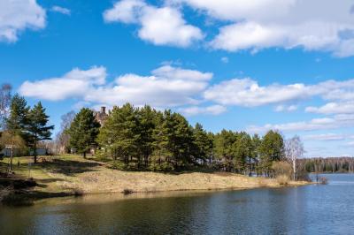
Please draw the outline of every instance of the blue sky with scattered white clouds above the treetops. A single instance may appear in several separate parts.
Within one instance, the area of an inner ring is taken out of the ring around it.
[[[212,132],[273,128],[307,156],[352,155],[352,5],[4,0],[0,82],[57,126],[82,106],[149,103]]]

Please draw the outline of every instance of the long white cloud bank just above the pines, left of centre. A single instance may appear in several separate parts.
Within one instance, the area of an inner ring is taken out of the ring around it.
[[[152,71],[150,76],[124,74],[113,83],[107,83],[106,77],[104,67],[92,67],[86,71],[73,69],[60,78],[25,81],[19,92],[50,101],[77,97],[84,102],[111,106],[125,102],[164,108],[196,105],[212,79],[212,73],[165,65]]]

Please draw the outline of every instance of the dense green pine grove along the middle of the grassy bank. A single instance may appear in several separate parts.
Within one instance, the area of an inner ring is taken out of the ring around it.
[[[65,116],[67,117],[67,116]],[[114,160],[117,167],[138,171],[180,171],[210,168],[244,174],[267,175],[273,162],[286,160],[285,142],[276,131],[265,136],[222,130],[206,132],[202,125],[189,125],[181,114],[130,103],[114,107],[103,126],[87,108],[73,117],[59,135],[86,156]]]

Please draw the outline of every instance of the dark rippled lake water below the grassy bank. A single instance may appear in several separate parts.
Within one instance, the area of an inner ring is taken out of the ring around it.
[[[354,234],[354,175],[327,186],[94,195],[0,207],[0,234]]]

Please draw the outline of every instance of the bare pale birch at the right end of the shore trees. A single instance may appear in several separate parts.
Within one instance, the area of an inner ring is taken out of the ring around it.
[[[296,160],[304,155],[304,144],[299,136],[286,140],[285,155],[293,165],[293,179],[296,180]]]

